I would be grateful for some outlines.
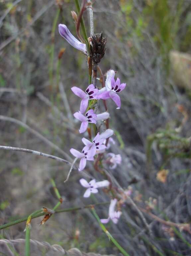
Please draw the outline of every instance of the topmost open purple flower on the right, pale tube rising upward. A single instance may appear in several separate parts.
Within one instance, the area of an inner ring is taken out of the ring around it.
[[[121,107],[120,97],[117,95],[118,92],[122,91],[126,83],[120,83],[120,79],[114,79],[115,71],[113,69],[107,71],[107,78],[105,82],[105,87],[99,90],[98,99],[109,99],[112,98],[117,105],[117,109]]]

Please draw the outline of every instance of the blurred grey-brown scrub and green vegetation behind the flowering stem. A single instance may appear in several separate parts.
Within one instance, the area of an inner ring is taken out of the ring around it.
[[[58,33],[63,23],[76,36],[72,10],[73,0],[0,0],[0,145],[68,161],[69,149],[81,148],[79,123],[73,118],[80,100],[70,88],[87,87],[87,63]],[[95,33],[107,36],[101,69],[118,71],[127,83],[121,109],[108,104],[116,134],[111,152],[121,154],[122,165],[104,168],[122,188],[131,185],[131,197],[146,209],[153,235],[128,203],[118,225],[110,223],[108,230],[130,255],[191,255],[190,232],[148,214],[173,223],[191,221],[191,1],[96,0],[93,12]],[[84,20],[89,28],[87,12]],[[109,201],[103,192],[84,199],[81,173],[73,172],[63,183],[69,169],[62,163],[7,151],[0,151],[0,159],[0,224],[42,206],[51,209],[57,202],[51,178],[64,208]],[[86,170],[101,179],[91,164]],[[107,211],[107,206],[97,208],[100,217]],[[57,214],[41,227],[39,223],[32,221],[31,239],[66,250],[120,255],[88,209]],[[24,238],[24,228],[21,223],[2,230],[0,238]],[[12,245],[12,255],[23,255],[23,248]],[[3,245],[0,250],[11,255]],[[41,247],[32,250],[33,255],[59,255]]]

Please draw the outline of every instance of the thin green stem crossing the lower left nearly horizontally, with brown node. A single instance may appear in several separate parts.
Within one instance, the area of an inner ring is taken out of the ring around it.
[[[110,203],[110,202],[98,203],[98,204],[94,204],[94,205],[86,205],[86,206],[82,206],[82,207],[73,207],[73,208],[59,209],[59,210],[55,211],[55,213],[78,211],[78,210],[83,210],[83,209],[86,209],[86,208],[90,208],[90,207],[92,207],[92,206],[106,205],[106,204],[109,204],[109,203]],[[39,211],[42,211],[42,210],[39,210]],[[43,215],[45,215],[45,213],[38,213],[38,214],[33,215],[31,219],[35,219],[35,218],[41,217],[41,216],[43,216]],[[19,220],[15,220],[15,221],[12,221],[12,222],[10,222],[10,223],[1,225],[1,226],[0,226],[0,230],[1,230],[1,229],[4,229],[4,228],[8,228],[8,227],[13,226],[13,225],[16,225],[16,224],[18,224],[18,223],[27,221],[27,219],[28,219],[28,216],[27,216],[27,217],[23,217],[23,218],[21,218],[21,219],[19,219]]]

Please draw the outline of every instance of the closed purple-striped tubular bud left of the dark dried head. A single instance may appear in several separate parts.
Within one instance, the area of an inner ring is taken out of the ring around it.
[[[74,48],[77,50],[82,51],[83,53],[87,54],[86,51],[86,45],[78,41],[69,31],[69,29],[66,27],[64,24],[59,24],[58,25],[58,30],[60,35],[66,39],[66,41],[71,44]]]

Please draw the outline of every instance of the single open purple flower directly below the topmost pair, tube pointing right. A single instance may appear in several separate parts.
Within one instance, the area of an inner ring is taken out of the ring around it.
[[[96,123],[98,120],[108,119],[109,113],[104,112],[96,115],[94,110],[90,109],[85,113],[85,116],[78,111],[74,113],[74,117],[82,122],[79,132],[84,133],[88,127],[88,123]]]

